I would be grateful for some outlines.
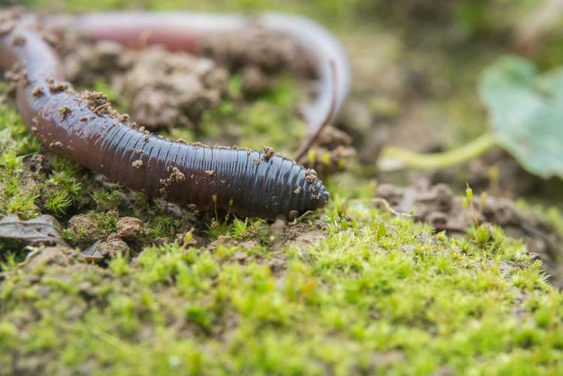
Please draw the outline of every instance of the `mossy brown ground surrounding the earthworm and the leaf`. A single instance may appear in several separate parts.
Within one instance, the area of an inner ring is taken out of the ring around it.
[[[217,10],[206,3],[189,8]],[[336,123],[346,133],[325,134],[307,161],[324,174],[331,203],[296,223],[197,213],[118,187],[44,151],[8,96],[0,216],[51,215],[61,231],[47,248],[0,239],[0,375],[562,373],[562,182],[529,175],[500,150],[430,173],[375,168],[383,144],[436,151],[483,132],[475,82],[512,51],[532,2],[402,3],[216,5],[315,17],[352,58],[355,89]],[[91,9],[81,0],[27,5]],[[543,68],[563,63],[557,32],[551,38],[533,56]],[[106,92],[161,134],[292,153],[305,133],[296,104],[306,73],[296,80],[252,64],[233,72],[72,38],[58,49],[77,87]],[[151,108],[154,97],[166,111]],[[476,213],[460,196],[466,181]],[[376,196],[417,215],[393,214]]]

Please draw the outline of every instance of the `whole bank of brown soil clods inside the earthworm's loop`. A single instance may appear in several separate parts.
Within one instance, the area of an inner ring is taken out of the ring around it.
[[[55,43],[68,80],[91,87],[105,80],[146,128],[188,126],[216,107],[227,93],[230,73],[241,73],[242,91],[248,96],[266,92],[281,70],[312,77],[311,59],[286,37],[264,30],[244,35],[208,38],[205,56],[169,52],[158,46],[124,49],[115,42],[91,42],[64,32]]]

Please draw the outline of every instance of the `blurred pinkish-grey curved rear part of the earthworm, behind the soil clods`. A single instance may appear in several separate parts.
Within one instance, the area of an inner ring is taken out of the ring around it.
[[[315,70],[320,76],[315,101],[301,108],[310,135],[298,149],[296,160],[305,154],[324,125],[334,120],[350,91],[350,65],[339,41],[318,23],[296,15],[262,13],[249,17],[186,12],[113,12],[51,15],[44,19],[44,23],[129,47],[160,44],[172,51],[196,54],[201,53],[205,38],[225,33],[236,35],[249,27],[290,37],[314,58]]]

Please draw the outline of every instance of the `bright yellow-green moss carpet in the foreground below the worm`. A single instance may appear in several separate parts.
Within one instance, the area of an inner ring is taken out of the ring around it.
[[[108,269],[12,268],[0,287],[1,369],[18,354],[21,367],[42,359],[51,372],[560,372],[563,296],[520,242],[498,228],[458,240],[334,206],[326,234],[278,251],[237,243],[262,226],[237,220],[226,248],[151,247]],[[26,335],[8,341],[32,311]]]

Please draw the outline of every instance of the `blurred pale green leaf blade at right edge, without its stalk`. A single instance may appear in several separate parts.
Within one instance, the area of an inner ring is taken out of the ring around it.
[[[563,70],[505,57],[479,85],[498,142],[530,173],[563,177]]]

